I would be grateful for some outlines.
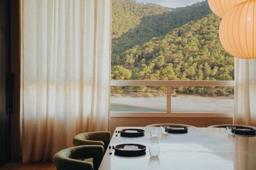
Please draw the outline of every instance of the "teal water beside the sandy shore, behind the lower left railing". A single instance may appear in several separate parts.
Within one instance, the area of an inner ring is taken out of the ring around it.
[[[110,103],[111,112],[166,112],[166,110]]]

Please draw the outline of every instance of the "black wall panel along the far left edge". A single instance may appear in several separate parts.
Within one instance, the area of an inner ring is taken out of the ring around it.
[[[0,0],[0,167],[11,159],[10,1]]]

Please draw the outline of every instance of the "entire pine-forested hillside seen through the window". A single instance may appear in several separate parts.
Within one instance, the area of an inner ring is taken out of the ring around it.
[[[111,78],[233,80],[234,57],[219,42],[219,24],[220,18],[211,13],[207,1],[173,9],[114,0]],[[201,90],[213,95],[207,89],[176,91],[192,94]],[[230,91],[230,87],[216,89],[215,95]],[[119,93],[123,91],[118,88]]]

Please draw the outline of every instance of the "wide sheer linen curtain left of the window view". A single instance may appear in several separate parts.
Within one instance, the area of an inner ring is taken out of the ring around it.
[[[20,1],[23,163],[109,129],[111,3]]]

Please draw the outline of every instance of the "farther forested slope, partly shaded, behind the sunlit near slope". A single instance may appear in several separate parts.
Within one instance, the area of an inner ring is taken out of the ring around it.
[[[153,3],[144,5],[131,0],[113,0],[112,4],[111,59],[114,65],[120,65],[126,50],[142,45],[153,37],[165,36],[174,28],[211,13],[207,1],[182,8],[168,8]]]

